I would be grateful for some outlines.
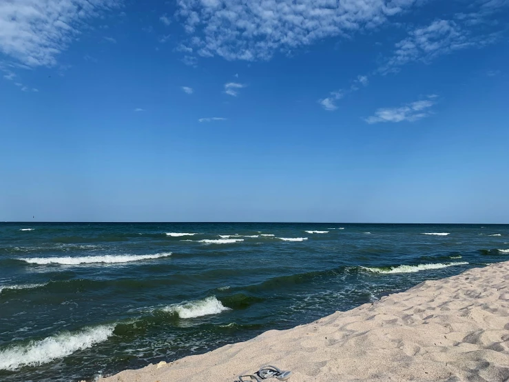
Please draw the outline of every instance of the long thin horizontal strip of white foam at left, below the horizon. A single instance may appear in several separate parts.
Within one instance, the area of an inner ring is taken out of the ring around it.
[[[90,263],[129,263],[130,261],[140,261],[149,259],[159,259],[160,257],[170,256],[172,252],[156,254],[105,254],[103,256],[83,256],[83,257],[25,257],[23,260],[31,264],[63,264],[78,265]]]

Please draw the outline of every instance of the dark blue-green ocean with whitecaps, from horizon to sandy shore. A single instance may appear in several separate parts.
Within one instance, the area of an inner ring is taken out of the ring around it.
[[[509,225],[0,223],[0,380],[90,381],[509,259]]]

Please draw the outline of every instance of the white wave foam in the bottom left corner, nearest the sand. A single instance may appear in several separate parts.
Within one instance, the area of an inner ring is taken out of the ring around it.
[[[67,332],[50,336],[28,345],[19,345],[0,351],[0,370],[17,370],[26,365],[41,365],[63,358],[77,350],[106,341],[113,334],[114,325],[101,325],[80,332]]]

